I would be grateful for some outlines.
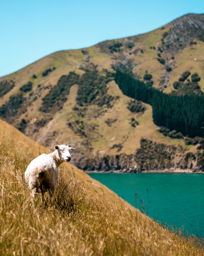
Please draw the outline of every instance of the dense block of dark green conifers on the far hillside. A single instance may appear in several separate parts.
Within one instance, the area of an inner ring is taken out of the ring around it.
[[[115,81],[125,95],[152,106],[156,125],[189,137],[204,137],[204,96],[165,94],[119,71],[116,72]]]

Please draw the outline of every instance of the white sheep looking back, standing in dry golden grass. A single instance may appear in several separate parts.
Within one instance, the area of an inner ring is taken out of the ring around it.
[[[57,185],[57,167],[63,161],[70,162],[70,150],[75,148],[70,148],[68,145],[56,145],[54,149],[54,152],[39,155],[32,160],[25,171],[25,180],[34,199],[36,194],[41,192],[43,201],[44,193],[49,191],[49,199],[51,201],[52,194]]]

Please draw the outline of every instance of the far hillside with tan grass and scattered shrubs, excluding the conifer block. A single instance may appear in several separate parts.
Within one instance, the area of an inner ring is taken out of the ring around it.
[[[114,82],[120,70],[164,93],[202,96],[203,41],[204,14],[188,14],[146,34],[53,53],[0,78],[0,118],[49,149],[71,144],[77,148],[73,162],[83,170],[203,170],[197,164],[203,140],[186,145],[184,138],[164,136],[151,106],[124,96]],[[154,166],[139,162],[143,139],[175,145],[175,155],[169,161],[164,152]]]

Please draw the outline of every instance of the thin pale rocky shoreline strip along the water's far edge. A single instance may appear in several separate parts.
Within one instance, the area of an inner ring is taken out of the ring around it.
[[[164,169],[164,170],[144,170],[144,171],[122,171],[122,170],[110,170],[110,171],[84,171],[85,173],[169,173],[169,174],[204,174],[201,170],[189,170],[189,169]]]

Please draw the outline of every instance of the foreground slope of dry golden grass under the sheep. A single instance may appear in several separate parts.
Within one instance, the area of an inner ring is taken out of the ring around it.
[[[1,255],[203,255],[201,241],[162,228],[72,164],[60,167],[52,204],[34,206],[24,172],[48,149],[0,126]]]

